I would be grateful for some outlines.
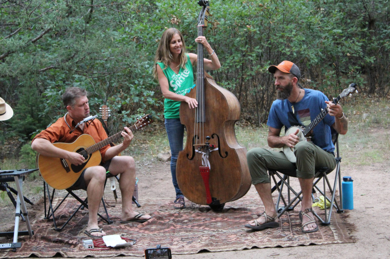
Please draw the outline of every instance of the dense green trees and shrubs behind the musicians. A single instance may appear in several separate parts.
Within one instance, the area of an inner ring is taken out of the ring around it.
[[[351,82],[360,91],[390,91],[388,0],[210,0],[204,32],[221,61],[217,83],[241,104],[241,119],[266,122],[274,100],[267,68],[288,59],[303,87],[335,96]],[[0,96],[14,108],[0,142],[26,143],[64,114],[60,94],[79,86],[91,114],[111,108],[111,131],[135,114],[163,119],[152,77],[162,32],[176,27],[196,52],[196,0],[14,0],[0,3]],[[113,123],[114,122],[114,123]]]

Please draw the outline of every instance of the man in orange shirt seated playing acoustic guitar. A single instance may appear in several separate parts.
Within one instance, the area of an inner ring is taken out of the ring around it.
[[[97,119],[77,126],[79,122],[89,116],[87,91],[85,89],[79,87],[67,88],[62,95],[62,101],[67,113],[35,136],[31,147],[43,156],[63,158],[70,161],[73,165],[82,165],[85,158],[81,154],[60,149],[52,143],[71,143],[82,134],[89,134],[97,143],[107,138],[107,135],[103,125]],[[119,179],[119,188],[122,193],[121,223],[145,222],[151,218],[150,215],[134,212],[131,207],[135,186],[135,162],[131,156],[117,156],[129,146],[134,137],[129,128],[125,127],[124,129],[125,131],[121,133],[124,138],[123,142],[113,147],[110,145],[102,147],[99,150],[102,163],[98,166],[85,168],[79,179],[70,187],[72,190],[84,189],[87,191],[89,219],[85,234],[91,237],[106,235],[97,225],[97,211],[104,193],[107,171],[110,171],[112,175],[121,175]]]

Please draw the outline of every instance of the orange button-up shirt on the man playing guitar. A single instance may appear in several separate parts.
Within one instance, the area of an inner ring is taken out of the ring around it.
[[[66,121],[68,122],[69,126],[74,129],[76,122],[74,122],[74,120],[68,114],[66,115]],[[64,117],[61,117],[56,122],[51,124],[47,129],[44,129],[41,131],[41,133],[36,135],[32,141],[34,141],[36,138],[44,138],[49,140],[51,143],[72,143],[82,134],[90,135],[96,143],[105,140],[107,138],[107,133],[103,128],[103,124],[101,124],[98,119],[94,119],[91,123],[89,122],[91,121],[85,122],[83,130],[77,127],[72,133],[70,133],[71,129],[69,129],[68,125],[66,124]],[[104,156],[107,149],[109,148],[110,145],[106,145],[99,150],[103,161],[105,161]]]

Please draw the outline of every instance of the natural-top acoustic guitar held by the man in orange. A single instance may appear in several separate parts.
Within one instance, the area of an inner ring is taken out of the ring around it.
[[[137,129],[144,128],[152,122],[152,116],[148,114],[129,128],[134,132]],[[98,143],[96,143],[88,134],[81,135],[73,143],[53,143],[53,145],[60,149],[81,154],[84,156],[85,160],[82,165],[73,165],[64,158],[53,158],[39,154],[37,163],[44,181],[58,190],[71,187],[85,168],[100,164],[101,155],[99,149],[119,140],[122,137],[121,133],[122,131]]]

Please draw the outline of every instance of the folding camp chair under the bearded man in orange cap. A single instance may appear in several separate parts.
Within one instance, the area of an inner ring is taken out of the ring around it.
[[[314,202],[314,193],[317,191],[319,194],[324,196],[325,201],[325,209],[324,209],[324,216],[321,218],[314,210],[313,214],[317,217],[317,219],[321,222],[323,226],[329,226],[330,224],[330,218],[332,216],[332,208],[334,207],[337,211],[337,213],[342,213],[342,189],[341,189],[341,173],[340,173],[340,152],[339,152],[339,140],[338,140],[339,134],[332,129],[332,141],[335,145],[335,154],[336,154],[336,167],[335,167],[335,178],[333,182],[333,186],[329,182],[328,174],[333,172],[333,170],[329,170],[327,167],[318,168],[317,172],[314,176],[314,182],[313,182],[313,191],[312,191],[312,200]],[[276,211],[277,211],[277,217],[280,217],[285,211],[291,211],[294,210],[294,208],[302,201],[302,191],[296,192],[294,191],[293,187],[290,185],[290,177],[296,177],[296,171],[291,170],[268,170],[269,177],[273,179],[273,182],[275,183],[275,186],[271,189],[271,192],[274,192],[278,190],[278,200],[276,203]],[[279,181],[277,181],[277,178]],[[320,180],[322,180],[323,184],[321,185]],[[339,202],[337,201],[335,194],[337,189],[337,183],[339,184],[339,193],[340,198]],[[287,200],[284,197],[283,190],[284,187],[287,188]],[[330,193],[330,196],[327,196],[326,187],[328,187],[328,191]],[[280,206],[280,203],[282,203],[282,206]],[[327,205],[330,205],[329,208],[327,208]]]

